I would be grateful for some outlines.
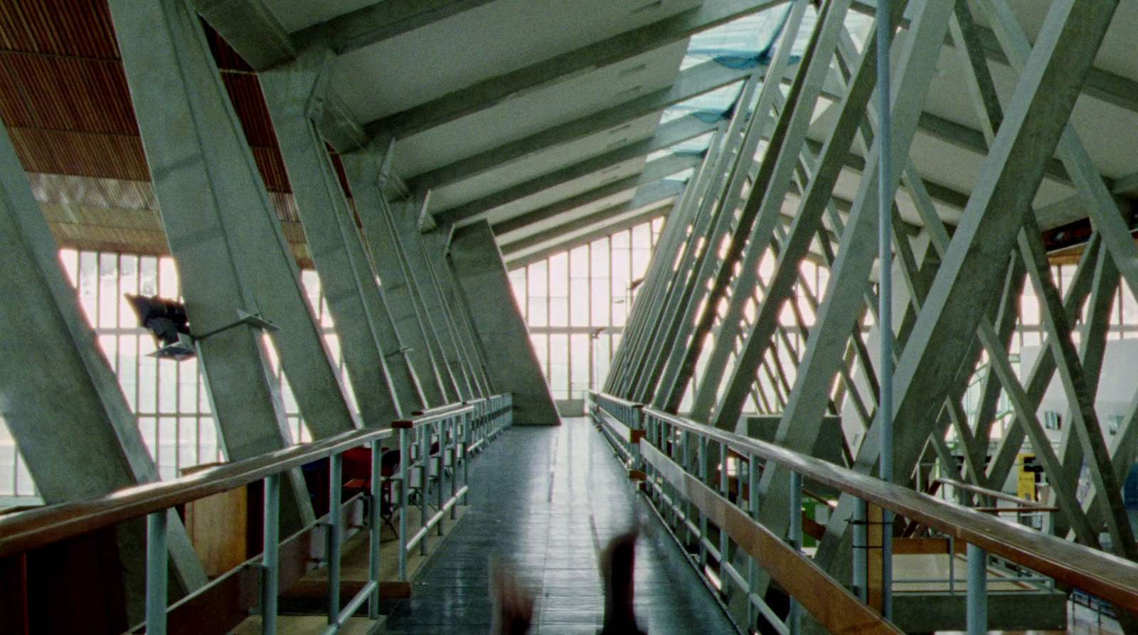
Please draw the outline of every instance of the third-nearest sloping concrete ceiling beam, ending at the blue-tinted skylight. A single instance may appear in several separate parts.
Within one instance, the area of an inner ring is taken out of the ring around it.
[[[477,176],[500,165],[526,158],[561,143],[569,143],[625,124],[637,117],[659,113],[682,101],[699,97],[718,88],[742,81],[752,69],[727,68],[715,61],[704,61],[681,71],[676,82],[667,89],[638,97],[630,101],[553,126],[523,139],[492,148],[450,165],[407,179],[412,190],[438,189],[448,183]]]

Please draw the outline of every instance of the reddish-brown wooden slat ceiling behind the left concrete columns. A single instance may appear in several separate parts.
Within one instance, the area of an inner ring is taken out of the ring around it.
[[[205,30],[266,189],[291,191],[256,75]],[[0,119],[27,172],[150,179],[106,0],[0,0]]]

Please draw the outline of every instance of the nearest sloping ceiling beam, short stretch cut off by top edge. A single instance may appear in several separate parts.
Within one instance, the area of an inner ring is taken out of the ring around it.
[[[291,35],[299,49],[325,47],[344,55],[489,2],[493,0],[384,0]]]

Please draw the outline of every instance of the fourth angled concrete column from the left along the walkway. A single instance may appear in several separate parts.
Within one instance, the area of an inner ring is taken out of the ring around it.
[[[340,155],[340,159],[344,162],[344,172],[352,188],[368,251],[379,274],[391,322],[404,344],[405,363],[419,378],[423,405],[439,406],[446,404],[448,398],[443,391],[443,374],[431,354],[428,332],[419,319],[406,262],[388,218],[388,203],[384,198],[387,166],[382,156],[382,150],[369,146]]]

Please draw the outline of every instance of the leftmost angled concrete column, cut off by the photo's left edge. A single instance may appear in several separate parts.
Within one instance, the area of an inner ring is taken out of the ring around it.
[[[118,380],[80,312],[58,247],[0,130],[0,415],[48,504],[159,480]],[[50,395],[50,398],[46,398]],[[82,439],[82,443],[75,443]],[[181,592],[206,583],[175,513],[171,572]],[[145,605],[142,520],[118,527],[129,613]]]

